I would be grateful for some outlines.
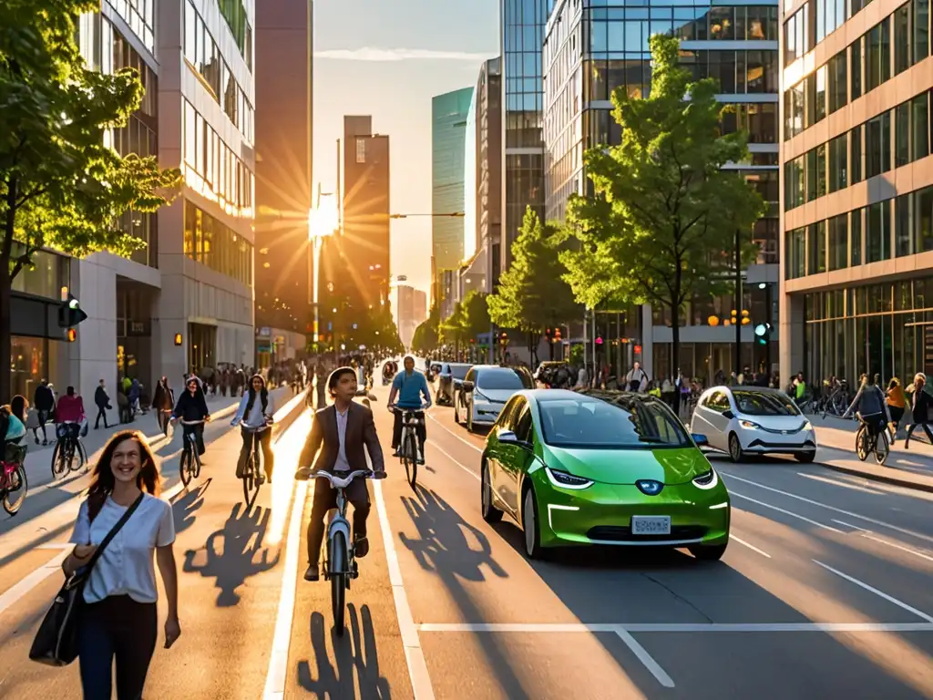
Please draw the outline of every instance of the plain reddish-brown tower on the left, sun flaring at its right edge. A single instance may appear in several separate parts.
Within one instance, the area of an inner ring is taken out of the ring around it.
[[[267,367],[313,332],[312,0],[258,3],[256,56],[256,350]]]

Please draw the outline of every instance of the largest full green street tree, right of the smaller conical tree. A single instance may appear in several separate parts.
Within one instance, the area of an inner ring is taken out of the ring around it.
[[[578,245],[561,259],[588,307],[648,302],[667,312],[676,358],[685,305],[734,288],[736,231],[750,241],[765,205],[742,175],[723,169],[745,161],[748,148],[746,133],[720,133],[717,81],[692,81],[676,39],[654,35],[650,48],[648,98],[612,94],[621,144],[584,156],[594,196],[571,195],[563,232]],[[756,254],[741,245],[743,265]]]

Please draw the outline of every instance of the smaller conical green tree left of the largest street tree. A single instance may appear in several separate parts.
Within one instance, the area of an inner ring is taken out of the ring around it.
[[[512,243],[512,264],[499,288],[487,298],[489,315],[500,328],[521,330],[537,361],[537,342],[544,329],[570,322],[580,315],[560,255],[568,243],[556,227],[545,224],[529,206],[522,228]],[[553,346],[550,348],[553,354]]]

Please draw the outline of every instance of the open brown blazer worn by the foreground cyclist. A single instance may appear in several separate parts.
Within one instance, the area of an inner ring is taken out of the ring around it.
[[[358,403],[351,403],[347,410],[347,428],[343,450],[351,469],[369,469],[363,445],[369,450],[369,459],[374,471],[385,469],[383,448],[376,435],[376,425],[372,421],[372,412]],[[299,457],[299,469],[313,466],[313,469],[333,471],[337,462],[337,453],[341,447],[337,432],[337,409],[327,406],[314,413],[311,433],[305,441]],[[320,452],[319,452],[320,451]],[[316,456],[316,459],[315,459]]]

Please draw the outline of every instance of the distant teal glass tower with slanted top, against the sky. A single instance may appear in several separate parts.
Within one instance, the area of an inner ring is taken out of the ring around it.
[[[431,213],[464,211],[464,144],[472,88],[431,100]],[[435,216],[431,242],[438,272],[455,270],[464,258],[464,219]]]

